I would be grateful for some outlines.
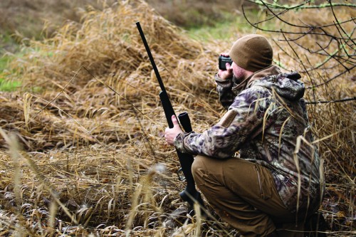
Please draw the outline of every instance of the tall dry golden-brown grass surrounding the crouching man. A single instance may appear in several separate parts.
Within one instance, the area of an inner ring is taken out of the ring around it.
[[[31,42],[36,50],[12,63],[6,75],[21,79],[23,88],[0,94],[1,234],[236,234],[219,221],[200,225],[193,220],[181,223],[182,228],[164,224],[182,206],[178,193],[184,183],[173,174],[179,167],[177,155],[162,139],[167,125],[159,85],[136,21],[142,25],[176,112],[189,112],[197,132],[224,113],[212,78],[217,55],[234,39],[204,45],[192,41],[141,1],[89,11],[83,23],[68,23],[55,37]],[[273,48],[283,65],[303,70],[288,57],[293,52],[286,44],[266,36],[282,46]],[[310,37],[300,43],[315,41],[320,39]],[[308,57],[301,50],[298,53]],[[309,59],[312,64],[320,61]],[[304,73],[305,84],[332,78],[338,67],[331,61],[309,76]],[[347,73],[308,90],[306,98],[353,96],[352,76]],[[350,236],[355,216],[355,102],[308,109],[328,178],[321,211],[333,224],[330,236]],[[184,221],[184,216],[174,219]]]

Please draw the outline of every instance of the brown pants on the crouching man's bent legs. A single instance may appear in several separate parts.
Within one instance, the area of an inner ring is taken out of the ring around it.
[[[244,159],[197,156],[194,180],[209,204],[244,236],[303,236],[303,224],[284,206],[271,172]],[[280,229],[279,229],[280,228]]]

